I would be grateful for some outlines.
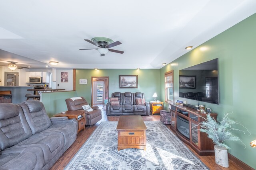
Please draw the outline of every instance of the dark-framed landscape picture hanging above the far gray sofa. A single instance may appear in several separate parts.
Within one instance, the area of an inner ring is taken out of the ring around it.
[[[119,75],[119,88],[138,88],[138,75]]]

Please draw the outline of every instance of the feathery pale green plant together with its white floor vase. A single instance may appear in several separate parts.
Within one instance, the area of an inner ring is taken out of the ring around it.
[[[210,114],[206,115],[205,121],[202,121],[200,125],[200,131],[207,133],[208,137],[212,139],[215,152],[216,164],[228,168],[228,145],[226,141],[241,141],[239,137],[232,135],[232,131],[241,131],[245,134],[245,131],[235,129],[232,125],[241,125],[248,131],[241,123],[234,121],[228,117],[230,113],[226,113],[223,119],[217,122]],[[248,131],[249,132],[249,131]],[[249,132],[250,133],[250,132]],[[242,141],[241,141],[242,142]],[[244,144],[242,142],[242,144]],[[246,145],[244,145],[246,147]]]

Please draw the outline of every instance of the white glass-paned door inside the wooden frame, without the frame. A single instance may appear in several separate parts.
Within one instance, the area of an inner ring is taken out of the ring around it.
[[[105,100],[105,94],[104,94],[104,82],[103,81],[94,81],[94,92],[93,92],[93,104],[103,104]]]

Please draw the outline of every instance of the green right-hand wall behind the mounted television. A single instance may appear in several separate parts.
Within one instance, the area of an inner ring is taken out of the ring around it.
[[[233,112],[230,118],[239,121],[248,128],[252,135],[245,135],[235,131],[234,135],[240,137],[240,141],[227,142],[231,147],[230,154],[242,160],[252,168],[256,168],[256,149],[250,147],[250,141],[256,139],[256,113],[254,102],[256,99],[256,14],[234,25],[230,29],[220,33],[216,37],[206,41],[202,45],[179,57],[172,63],[160,69],[160,88],[164,89],[164,72],[174,70],[174,101],[184,100],[178,96],[179,70],[193,66],[215,58],[219,59],[219,88],[220,104],[204,104],[218,113],[220,120],[224,113]],[[203,47],[203,48],[202,48]],[[164,100],[164,90],[161,91]],[[188,104],[196,105],[194,100],[186,99]],[[165,105],[167,109],[167,105]],[[236,126],[242,129],[241,126]],[[243,129],[244,130],[244,129]]]

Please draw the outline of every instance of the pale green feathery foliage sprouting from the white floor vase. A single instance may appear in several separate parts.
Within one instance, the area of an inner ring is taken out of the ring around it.
[[[241,131],[241,130],[233,128],[232,125],[238,124],[244,127],[241,123],[228,118],[229,114],[230,113],[226,113],[223,119],[219,122],[215,121],[214,118],[210,116],[210,114],[207,114],[206,119],[204,118],[205,121],[199,124],[201,126],[200,131],[207,133],[208,137],[212,139],[215,145],[218,145],[219,147],[225,147],[227,149],[230,149],[230,147],[228,147],[228,145],[224,143],[225,141],[240,140],[238,137],[232,135],[231,131]],[[246,127],[244,128],[248,131]],[[245,131],[242,131],[242,132],[245,134]]]

